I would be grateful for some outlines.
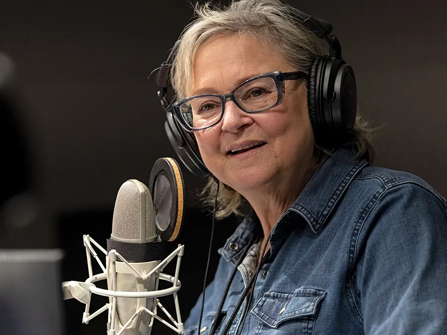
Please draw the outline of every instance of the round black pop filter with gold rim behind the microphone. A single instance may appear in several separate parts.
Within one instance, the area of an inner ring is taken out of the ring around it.
[[[164,201],[172,202],[170,204],[169,213],[167,213],[168,216],[166,216],[166,213],[160,211],[161,206],[168,205],[160,203],[159,201],[164,195],[159,194],[162,190],[156,188],[157,182],[161,182],[161,179],[165,182],[167,179],[169,184],[168,188],[171,196],[168,197],[168,199],[163,199]],[[154,200],[155,216],[158,219],[156,226],[157,234],[162,241],[174,241],[181,230],[184,194],[183,175],[175,160],[167,157],[160,158],[155,162],[149,178],[149,190],[151,191],[152,199]],[[162,214],[165,216],[162,217]]]

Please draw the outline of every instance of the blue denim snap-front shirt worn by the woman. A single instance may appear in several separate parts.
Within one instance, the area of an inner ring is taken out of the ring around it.
[[[447,203],[407,172],[339,149],[272,230],[241,334],[447,334]],[[201,334],[221,334],[259,258],[256,216],[219,250]],[[247,252],[248,250],[248,252]],[[216,318],[227,280],[246,256]],[[198,333],[201,296],[185,322]],[[240,308],[228,334],[241,325]],[[215,321],[216,320],[216,321]]]

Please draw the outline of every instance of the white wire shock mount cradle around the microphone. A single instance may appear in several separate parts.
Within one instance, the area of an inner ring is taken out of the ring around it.
[[[103,265],[101,260],[98,257],[98,254],[96,253],[93,246],[96,246],[102,253],[106,255],[106,266]],[[137,269],[135,269],[134,266],[132,266],[131,263],[126,261],[124,257],[122,257],[116,250],[111,250],[109,253],[101,246],[99,245],[93,238],[91,238],[89,235],[84,235],[84,246],[85,251],[87,255],[87,266],[88,266],[88,272],[89,272],[89,278],[85,281],[65,281],[62,283],[62,293],[64,299],[69,298],[75,298],[76,300],[84,303],[85,306],[85,312],[82,317],[82,322],[84,324],[88,324],[90,320],[97,317],[99,314],[103,313],[104,311],[109,311],[109,317],[108,317],[108,324],[107,324],[107,333],[109,335],[121,335],[127,328],[130,327],[132,321],[140,314],[147,313],[151,316],[150,324],[153,323],[154,319],[159,320],[161,323],[163,323],[165,326],[169,327],[171,330],[176,332],[177,334],[184,334],[184,328],[183,323],[181,322],[181,316],[180,316],[180,307],[178,305],[178,297],[177,297],[177,291],[181,287],[180,280],[178,280],[178,275],[180,272],[180,262],[181,257],[183,256],[183,250],[184,245],[178,245],[178,247],[169,254],[167,258],[165,258],[163,261],[160,262],[155,268],[153,268],[150,272],[146,273],[146,271],[139,272]],[[95,260],[98,262],[99,266],[102,269],[102,273],[98,275],[93,275],[93,269],[92,269],[92,256],[95,258]],[[175,256],[177,256],[177,264],[175,267],[175,275],[170,276],[167,274],[162,273],[165,267],[168,265],[170,261],[172,261]],[[136,278],[140,278],[143,280],[147,280],[151,278],[151,276],[157,277],[159,276],[159,279],[165,280],[172,283],[172,286],[165,289],[158,289],[158,285],[155,290],[153,291],[145,291],[145,292],[126,292],[126,291],[118,291],[116,289],[116,262],[122,262],[124,263],[129,269],[131,269],[131,272],[135,275]],[[112,289],[102,289],[95,285],[95,282],[107,279],[112,284]],[[109,303],[106,303],[103,307],[98,309],[96,312],[90,314],[90,301],[92,297],[92,293],[97,295],[102,295],[109,297]],[[175,312],[177,316],[177,320],[175,320],[169,312],[163,307],[163,305],[160,303],[158,297],[166,296],[172,294],[174,297],[174,304],[175,304]],[[154,311],[151,311],[145,307],[141,307],[137,309],[137,311],[130,317],[130,319],[122,325],[116,324],[116,298],[135,298],[135,299],[141,299],[141,298],[154,298],[155,299],[155,309]],[[160,316],[157,315],[157,310],[160,308],[167,316],[168,319],[171,321],[172,324],[168,323],[167,321],[163,320]]]

